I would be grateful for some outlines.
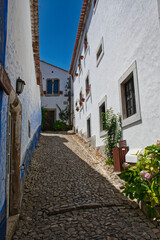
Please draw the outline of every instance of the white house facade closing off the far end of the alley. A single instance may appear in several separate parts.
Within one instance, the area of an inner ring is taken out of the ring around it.
[[[59,118],[59,108],[64,110],[69,108],[71,83],[70,74],[59,67],[40,62],[40,68],[43,81],[43,96],[41,97],[42,107],[48,112],[49,129],[52,130],[52,125]]]

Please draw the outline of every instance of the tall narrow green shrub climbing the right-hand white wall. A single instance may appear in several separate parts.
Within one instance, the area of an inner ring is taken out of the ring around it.
[[[102,113],[103,128],[107,132],[104,139],[105,153],[107,156],[107,164],[113,164],[113,148],[117,147],[117,143],[121,140],[121,117],[113,112],[113,109],[108,109]]]

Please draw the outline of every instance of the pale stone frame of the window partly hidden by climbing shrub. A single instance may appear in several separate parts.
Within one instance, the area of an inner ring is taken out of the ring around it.
[[[102,123],[102,105],[105,104],[105,112],[107,110],[107,95],[105,95],[102,100],[98,103],[98,110],[99,110],[99,134],[100,137],[106,136],[106,131],[103,129],[103,123]]]

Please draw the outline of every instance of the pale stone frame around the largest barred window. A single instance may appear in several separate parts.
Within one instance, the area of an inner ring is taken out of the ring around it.
[[[135,113],[127,117],[126,109],[126,97],[125,97],[125,84],[131,79],[133,75],[133,85],[134,85],[134,97],[135,97]],[[136,61],[128,68],[128,70],[119,79],[119,95],[120,95],[120,107],[122,116],[122,127],[131,125],[137,121],[141,120],[140,111],[140,98],[139,98],[139,87],[138,87],[138,74],[137,74],[137,63]]]

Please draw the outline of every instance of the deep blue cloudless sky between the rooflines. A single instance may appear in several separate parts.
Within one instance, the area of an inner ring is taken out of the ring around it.
[[[69,70],[83,0],[39,0],[40,59]]]

